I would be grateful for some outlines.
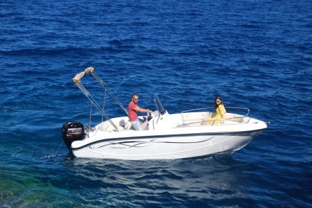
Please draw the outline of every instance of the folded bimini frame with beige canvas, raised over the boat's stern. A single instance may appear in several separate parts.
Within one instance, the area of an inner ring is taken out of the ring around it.
[[[125,109],[125,107],[123,107],[123,104],[121,104],[121,102],[118,100],[118,98],[114,95],[114,93],[112,93],[112,91],[107,87],[107,85],[104,83],[103,80],[101,80],[101,78],[96,74],[96,72],[94,71],[93,67],[88,67],[87,69],[85,69],[84,71],[77,73],[76,76],[73,77],[73,83],[75,83],[75,85],[77,85],[77,87],[83,92],[83,94],[85,94],[85,96],[87,96],[87,98],[89,99],[89,101],[91,101],[91,104],[94,104],[96,106],[96,108],[101,112],[102,116],[105,117],[105,119],[107,121],[110,122],[110,124],[112,124],[112,126],[115,128],[116,131],[118,131],[118,128],[116,127],[116,125],[112,122],[112,120],[107,116],[107,114],[105,114],[104,111],[104,106],[101,107],[100,105],[98,105],[98,103],[95,101],[95,99],[91,96],[91,94],[89,94],[89,92],[87,91],[87,89],[85,89],[85,87],[83,87],[83,84],[81,83],[81,78],[83,78],[83,76],[85,76],[87,73],[91,73],[92,76],[94,76],[94,78],[98,81],[98,83],[100,83],[102,85],[102,87],[105,89],[106,92],[108,92],[110,94],[110,96],[112,96],[112,98],[114,98],[114,101],[116,101],[116,103],[121,107],[121,109],[125,112],[125,114],[128,115],[128,111]],[[90,114],[91,114],[91,110],[90,110]]]

